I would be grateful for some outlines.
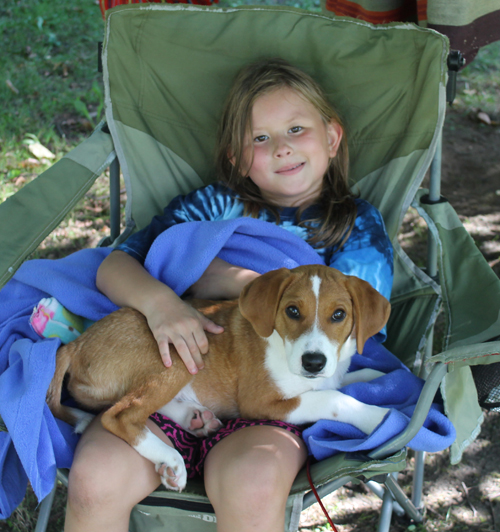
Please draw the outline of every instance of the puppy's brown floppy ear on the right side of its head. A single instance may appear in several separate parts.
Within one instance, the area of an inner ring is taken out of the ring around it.
[[[368,338],[377,334],[387,323],[391,304],[370,283],[358,277],[347,276],[345,287],[351,295],[354,309],[357,350],[362,354]]]

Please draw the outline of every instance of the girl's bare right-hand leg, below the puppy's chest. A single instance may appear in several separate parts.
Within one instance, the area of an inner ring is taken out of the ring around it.
[[[246,427],[219,442],[205,462],[217,531],[282,532],[286,500],[306,458],[304,442],[277,427]]]

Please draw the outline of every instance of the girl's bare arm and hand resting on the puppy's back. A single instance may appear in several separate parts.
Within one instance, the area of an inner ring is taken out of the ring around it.
[[[116,305],[144,314],[165,366],[172,364],[169,344],[173,344],[190,373],[203,368],[201,355],[208,350],[205,331],[219,334],[223,328],[182,301],[136,259],[113,251],[99,267],[96,284]]]

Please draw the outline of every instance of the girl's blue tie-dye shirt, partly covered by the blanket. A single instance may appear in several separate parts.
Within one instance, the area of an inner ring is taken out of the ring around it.
[[[337,246],[316,248],[327,266],[337,268],[347,275],[368,281],[387,299],[390,298],[393,278],[392,244],[386,233],[379,211],[362,199],[356,200],[357,216],[353,230],[341,250]],[[302,220],[317,218],[314,205],[305,209]],[[296,220],[297,208],[280,210],[279,225],[307,240],[307,229]],[[134,233],[117,249],[132,255],[141,264],[156,237],[173,225],[182,222],[231,220],[243,216],[243,202],[222,184],[199,188],[186,196],[174,198],[162,215],[155,216],[151,223]],[[276,223],[273,213],[262,209],[261,220]]]

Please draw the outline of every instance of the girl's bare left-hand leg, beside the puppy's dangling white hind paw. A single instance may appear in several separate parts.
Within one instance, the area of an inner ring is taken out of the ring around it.
[[[148,428],[170,440],[153,423]],[[70,469],[65,532],[127,532],[132,508],[160,484],[154,465],[92,421]]]

